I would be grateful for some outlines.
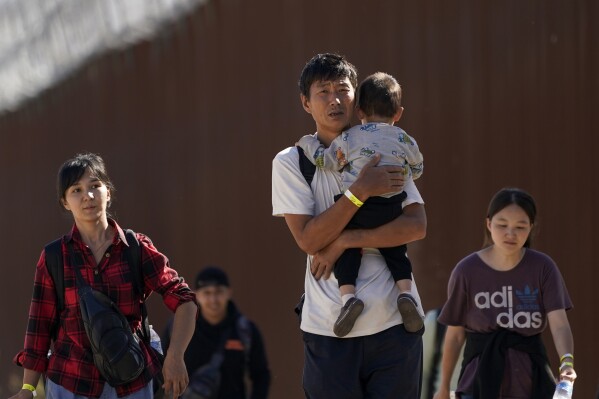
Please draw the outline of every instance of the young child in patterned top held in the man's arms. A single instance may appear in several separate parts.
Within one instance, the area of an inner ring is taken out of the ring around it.
[[[304,136],[298,146],[317,167],[329,170],[342,169],[342,184],[345,194],[335,196],[337,201],[347,196],[360,208],[348,223],[347,228],[375,228],[395,219],[402,213],[404,192],[388,193],[381,197],[368,198],[364,203],[348,188],[356,180],[362,167],[370,158],[381,154],[378,165],[400,165],[404,175],[417,179],[422,174],[423,158],[416,141],[402,129],[393,126],[402,115],[401,87],[391,75],[377,72],[360,84],[356,94],[356,108],[362,125],[343,132],[328,148],[315,136]],[[333,332],[339,337],[347,335],[364,309],[364,303],[356,297],[356,279],[361,262],[361,248],[346,250],[334,272],[339,282],[343,307],[335,322]],[[397,307],[403,318],[404,327],[416,332],[423,326],[412,289],[412,266],[406,256],[406,245],[379,248],[387,267],[399,289]]]

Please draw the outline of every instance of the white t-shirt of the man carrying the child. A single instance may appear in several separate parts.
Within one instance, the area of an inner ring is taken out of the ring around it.
[[[333,205],[333,197],[341,193],[341,187],[341,173],[317,169],[310,188],[300,171],[297,148],[287,148],[278,153],[273,160],[273,215],[316,216]],[[404,207],[412,203],[423,203],[411,179],[406,182],[404,191],[407,194]],[[312,257],[308,255],[305,275],[306,300],[301,329],[334,337],[333,324],[343,305],[339,285],[334,274],[331,274],[328,280],[314,279],[310,273],[311,260]],[[393,277],[379,251],[374,248],[364,249],[356,281],[356,296],[364,302],[364,311],[346,337],[376,334],[401,324],[402,319],[396,303],[398,295]],[[419,312],[424,315],[415,281],[412,281],[412,295],[419,304]]]

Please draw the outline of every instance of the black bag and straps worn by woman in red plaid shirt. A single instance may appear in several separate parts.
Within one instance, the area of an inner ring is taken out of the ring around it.
[[[125,248],[125,256],[132,276],[133,287],[139,295],[143,294],[143,273],[141,270],[141,246],[132,230],[126,230],[125,236],[129,246]],[[46,267],[56,290],[57,311],[64,309],[64,264],[62,257],[62,239],[58,239],[45,247]],[[150,342],[150,327],[145,303],[141,304],[142,331],[132,333],[127,319],[110,298],[92,289],[81,277],[78,259],[73,255],[79,304],[86,333],[89,337],[94,363],[102,376],[111,386],[126,384],[135,380],[145,369],[145,357],[139,346],[139,340]],[[52,328],[55,339],[58,323]],[[123,345],[123,342],[127,342]],[[163,357],[154,351],[160,360]],[[162,389],[162,373],[154,378],[154,390]],[[161,393],[161,392],[157,392]]]

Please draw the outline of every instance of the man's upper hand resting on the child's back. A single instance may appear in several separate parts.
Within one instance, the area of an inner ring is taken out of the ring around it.
[[[392,165],[376,166],[380,159],[380,154],[373,155],[350,187],[350,191],[362,202],[369,197],[403,190],[404,169],[401,166]]]

